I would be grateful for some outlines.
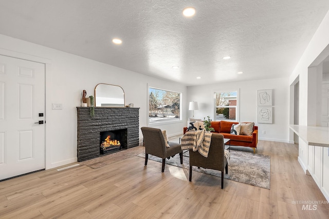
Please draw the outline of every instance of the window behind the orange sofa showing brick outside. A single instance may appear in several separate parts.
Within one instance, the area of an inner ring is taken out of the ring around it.
[[[237,91],[215,92],[215,120],[237,121]]]

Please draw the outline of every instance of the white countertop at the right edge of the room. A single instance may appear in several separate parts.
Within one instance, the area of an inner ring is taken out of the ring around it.
[[[308,145],[329,147],[329,127],[289,125]]]

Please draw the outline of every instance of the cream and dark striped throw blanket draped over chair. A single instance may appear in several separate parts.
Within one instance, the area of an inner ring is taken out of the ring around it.
[[[208,157],[211,132],[205,132],[205,130],[188,131],[181,138],[181,149],[198,151],[204,157]]]

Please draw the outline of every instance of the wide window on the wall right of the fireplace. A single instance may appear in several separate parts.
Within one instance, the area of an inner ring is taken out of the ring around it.
[[[149,123],[180,121],[181,93],[149,88]]]

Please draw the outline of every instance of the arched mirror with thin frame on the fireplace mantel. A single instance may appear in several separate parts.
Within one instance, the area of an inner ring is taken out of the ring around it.
[[[96,107],[124,107],[122,87],[109,84],[98,84],[95,87]]]

